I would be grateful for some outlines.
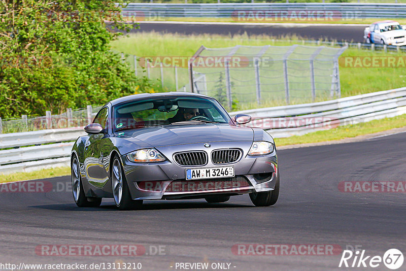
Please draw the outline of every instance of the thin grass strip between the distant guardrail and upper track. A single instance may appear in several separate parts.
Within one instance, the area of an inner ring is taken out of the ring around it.
[[[327,23],[327,24],[371,24],[381,20],[395,20],[400,24],[406,24],[404,18],[363,18],[357,20],[235,20],[233,18],[210,18],[210,17],[154,17],[152,19],[145,18],[143,21],[174,21],[174,22],[227,22],[227,23]]]

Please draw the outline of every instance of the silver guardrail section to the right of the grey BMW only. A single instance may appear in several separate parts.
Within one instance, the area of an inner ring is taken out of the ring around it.
[[[252,116],[248,126],[260,127],[274,138],[300,136],[336,126],[406,114],[406,87],[313,104],[232,112]]]

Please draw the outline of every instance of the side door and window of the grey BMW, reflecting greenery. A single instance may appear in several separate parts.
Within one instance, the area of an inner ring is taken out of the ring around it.
[[[108,161],[109,154],[104,146],[108,139],[108,134],[106,133],[108,115],[109,109],[107,107],[100,109],[94,118],[93,123],[100,124],[104,131],[90,134],[85,145],[86,178],[89,184],[99,188],[103,187],[109,180],[108,163],[105,165],[105,162]]]

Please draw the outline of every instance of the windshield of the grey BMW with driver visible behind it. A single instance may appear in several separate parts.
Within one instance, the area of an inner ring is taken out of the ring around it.
[[[216,100],[201,97],[158,97],[113,107],[113,132],[189,121],[228,123],[230,118]]]

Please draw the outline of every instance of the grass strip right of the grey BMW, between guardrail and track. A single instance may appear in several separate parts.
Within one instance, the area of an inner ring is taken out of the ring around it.
[[[355,125],[339,126],[330,130],[320,130],[304,134],[303,136],[294,136],[290,138],[275,139],[276,146],[317,143],[332,140],[341,140],[355,138],[364,134],[386,131],[394,128],[404,127],[406,125],[406,114],[393,118],[384,118],[373,120]]]

